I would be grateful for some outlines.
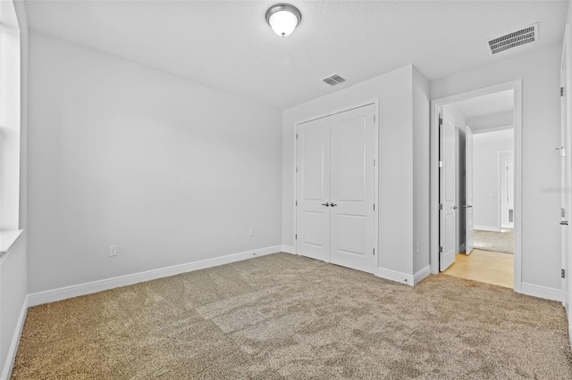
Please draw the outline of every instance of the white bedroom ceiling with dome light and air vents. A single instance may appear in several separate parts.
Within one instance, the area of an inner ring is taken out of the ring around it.
[[[278,37],[278,1],[26,1],[29,28],[286,109],[414,64],[433,80],[561,41],[562,1],[298,1]],[[492,56],[485,40],[539,22],[538,42]],[[340,74],[330,87],[321,79]]]

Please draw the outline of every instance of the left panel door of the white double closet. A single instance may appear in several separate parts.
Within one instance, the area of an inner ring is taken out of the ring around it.
[[[298,127],[296,252],[330,260],[330,118]]]

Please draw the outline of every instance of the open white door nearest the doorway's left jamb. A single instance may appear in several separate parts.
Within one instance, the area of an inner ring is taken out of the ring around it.
[[[449,112],[442,112],[440,120],[440,247],[439,270],[449,268],[455,262],[455,228],[457,227],[457,209],[455,204],[455,125]]]

